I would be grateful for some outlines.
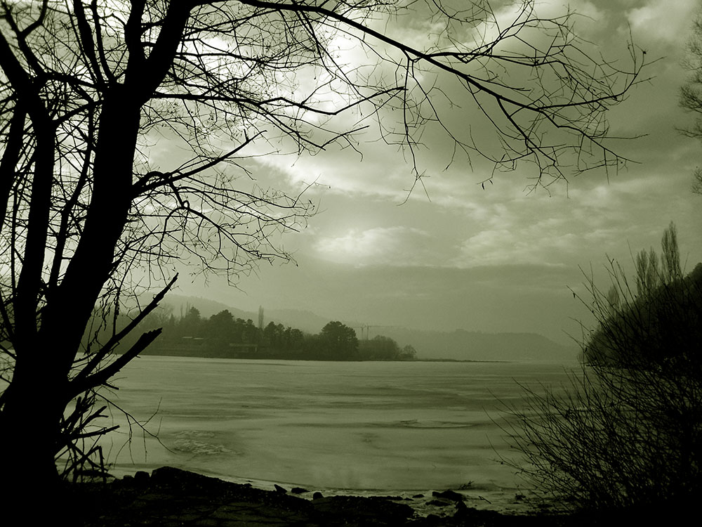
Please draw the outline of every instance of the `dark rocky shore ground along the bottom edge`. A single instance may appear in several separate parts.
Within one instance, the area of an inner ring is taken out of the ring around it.
[[[305,500],[286,490],[260,490],[164,467],[111,483],[71,486],[82,504],[76,526],[585,526],[584,516],[512,516],[467,507],[443,493],[444,516],[417,516],[408,502],[387,497],[317,495]]]

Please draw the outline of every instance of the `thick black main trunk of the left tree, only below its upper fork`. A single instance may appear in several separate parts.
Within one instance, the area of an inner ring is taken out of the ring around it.
[[[47,297],[38,332],[25,332],[14,343],[13,379],[0,412],[0,455],[4,458],[0,496],[4,504],[16,507],[29,498],[37,510],[27,519],[43,512],[46,500],[57,496],[54,456],[61,418],[69,403],[69,375],[95,301],[112,272],[114,249],[126,225],[139,117],[138,105],[119,96],[106,100],[95,152],[91,207],[79,247],[62,282]],[[33,321],[36,327],[34,313],[33,320],[23,315],[25,325]]]

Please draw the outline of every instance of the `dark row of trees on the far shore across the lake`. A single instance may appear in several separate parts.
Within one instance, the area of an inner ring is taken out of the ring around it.
[[[400,347],[390,337],[358,339],[355,330],[336,320],[317,334],[269,322],[235,318],[224,310],[209,318],[195,307],[177,317],[168,310],[154,311],[143,330],[162,327],[160,337],[145,355],[211,358],[277,358],[300,360],[413,360],[413,346]]]

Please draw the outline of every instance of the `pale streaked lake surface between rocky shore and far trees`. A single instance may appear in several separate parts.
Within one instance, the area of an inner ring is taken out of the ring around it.
[[[498,423],[517,382],[557,385],[574,363],[340,363],[144,357],[115,384],[126,419],[114,473],[171,465],[314,489],[515,488]],[[155,412],[155,415],[154,415]]]

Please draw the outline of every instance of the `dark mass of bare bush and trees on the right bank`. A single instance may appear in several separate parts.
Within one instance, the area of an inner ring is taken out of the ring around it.
[[[675,240],[671,224],[660,259],[640,253],[636,290],[610,264],[616,303],[589,282],[583,371],[512,412],[517,466],[564,505],[668,518],[702,491],[702,263],[683,276]]]

